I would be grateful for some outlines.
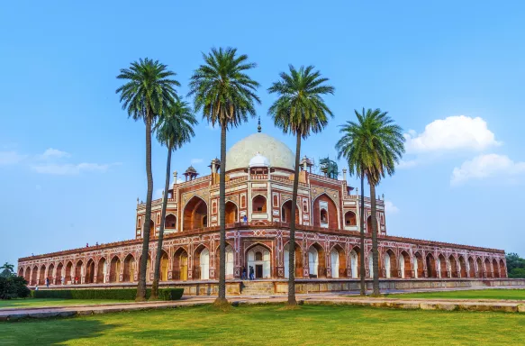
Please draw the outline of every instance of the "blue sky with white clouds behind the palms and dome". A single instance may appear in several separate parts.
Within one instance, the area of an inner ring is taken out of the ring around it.
[[[289,63],[330,78],[335,118],[303,154],[335,157],[338,125],[379,107],[407,155],[378,187],[387,232],[519,252],[525,193],[525,4],[495,2],[10,2],[0,11],[0,262],[133,237],[145,199],[144,125],[114,91],[144,57],[177,72],[181,95],[201,52],[233,46],[267,87]],[[199,116],[200,119],[200,116]],[[228,134],[228,147],[257,119]],[[172,167],[208,174],[220,133],[200,123]],[[153,145],[155,190],[166,150]],[[343,163],[340,162],[342,168]],[[349,179],[354,186],[357,181]]]

